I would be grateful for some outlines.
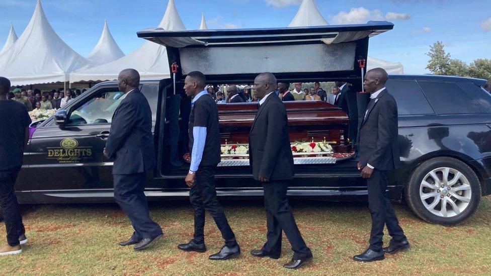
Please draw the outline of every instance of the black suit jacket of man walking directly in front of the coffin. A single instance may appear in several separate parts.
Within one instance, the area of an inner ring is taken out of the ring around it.
[[[288,137],[286,109],[275,93],[259,107],[249,133],[249,161],[254,179],[293,178],[293,155]]]

